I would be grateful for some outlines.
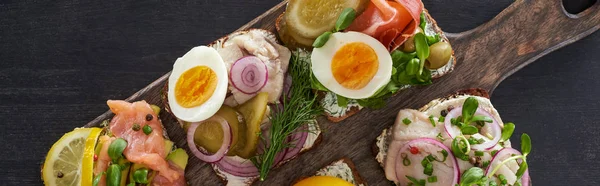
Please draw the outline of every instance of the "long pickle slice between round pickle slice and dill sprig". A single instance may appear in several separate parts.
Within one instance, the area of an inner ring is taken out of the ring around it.
[[[239,145],[234,149],[236,155],[246,159],[256,155],[256,146],[258,145],[260,136],[260,124],[267,111],[268,99],[269,94],[261,92],[237,107],[237,110],[244,116],[244,120],[246,121],[246,137],[244,145]]]

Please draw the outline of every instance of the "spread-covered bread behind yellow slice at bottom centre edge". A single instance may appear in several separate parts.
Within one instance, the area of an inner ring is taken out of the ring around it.
[[[333,176],[346,180],[357,186],[367,186],[367,183],[362,179],[360,174],[358,174],[356,166],[352,160],[346,157],[331,162],[329,165],[319,169],[314,176]],[[294,183],[297,183],[304,178],[307,177],[301,177]]]

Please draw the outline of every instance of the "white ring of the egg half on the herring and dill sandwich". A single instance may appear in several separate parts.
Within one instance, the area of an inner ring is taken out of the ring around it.
[[[197,66],[207,66],[212,69],[217,76],[217,86],[212,96],[202,105],[185,108],[179,105],[175,99],[175,85],[181,74]],[[171,112],[175,117],[188,122],[199,122],[210,118],[223,105],[225,95],[227,94],[228,82],[227,68],[217,50],[206,46],[192,48],[192,50],[175,61],[173,71],[171,71],[171,75],[169,76],[169,92],[167,97]]]

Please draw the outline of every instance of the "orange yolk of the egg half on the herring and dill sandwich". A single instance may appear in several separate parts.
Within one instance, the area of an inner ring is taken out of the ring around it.
[[[202,105],[217,88],[217,74],[207,66],[197,66],[181,74],[175,84],[175,100],[185,108]]]

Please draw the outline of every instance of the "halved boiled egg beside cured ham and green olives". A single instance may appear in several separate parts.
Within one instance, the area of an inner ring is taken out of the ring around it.
[[[386,47],[360,32],[333,33],[323,47],[313,49],[311,63],[325,88],[352,99],[371,97],[392,76]]]

